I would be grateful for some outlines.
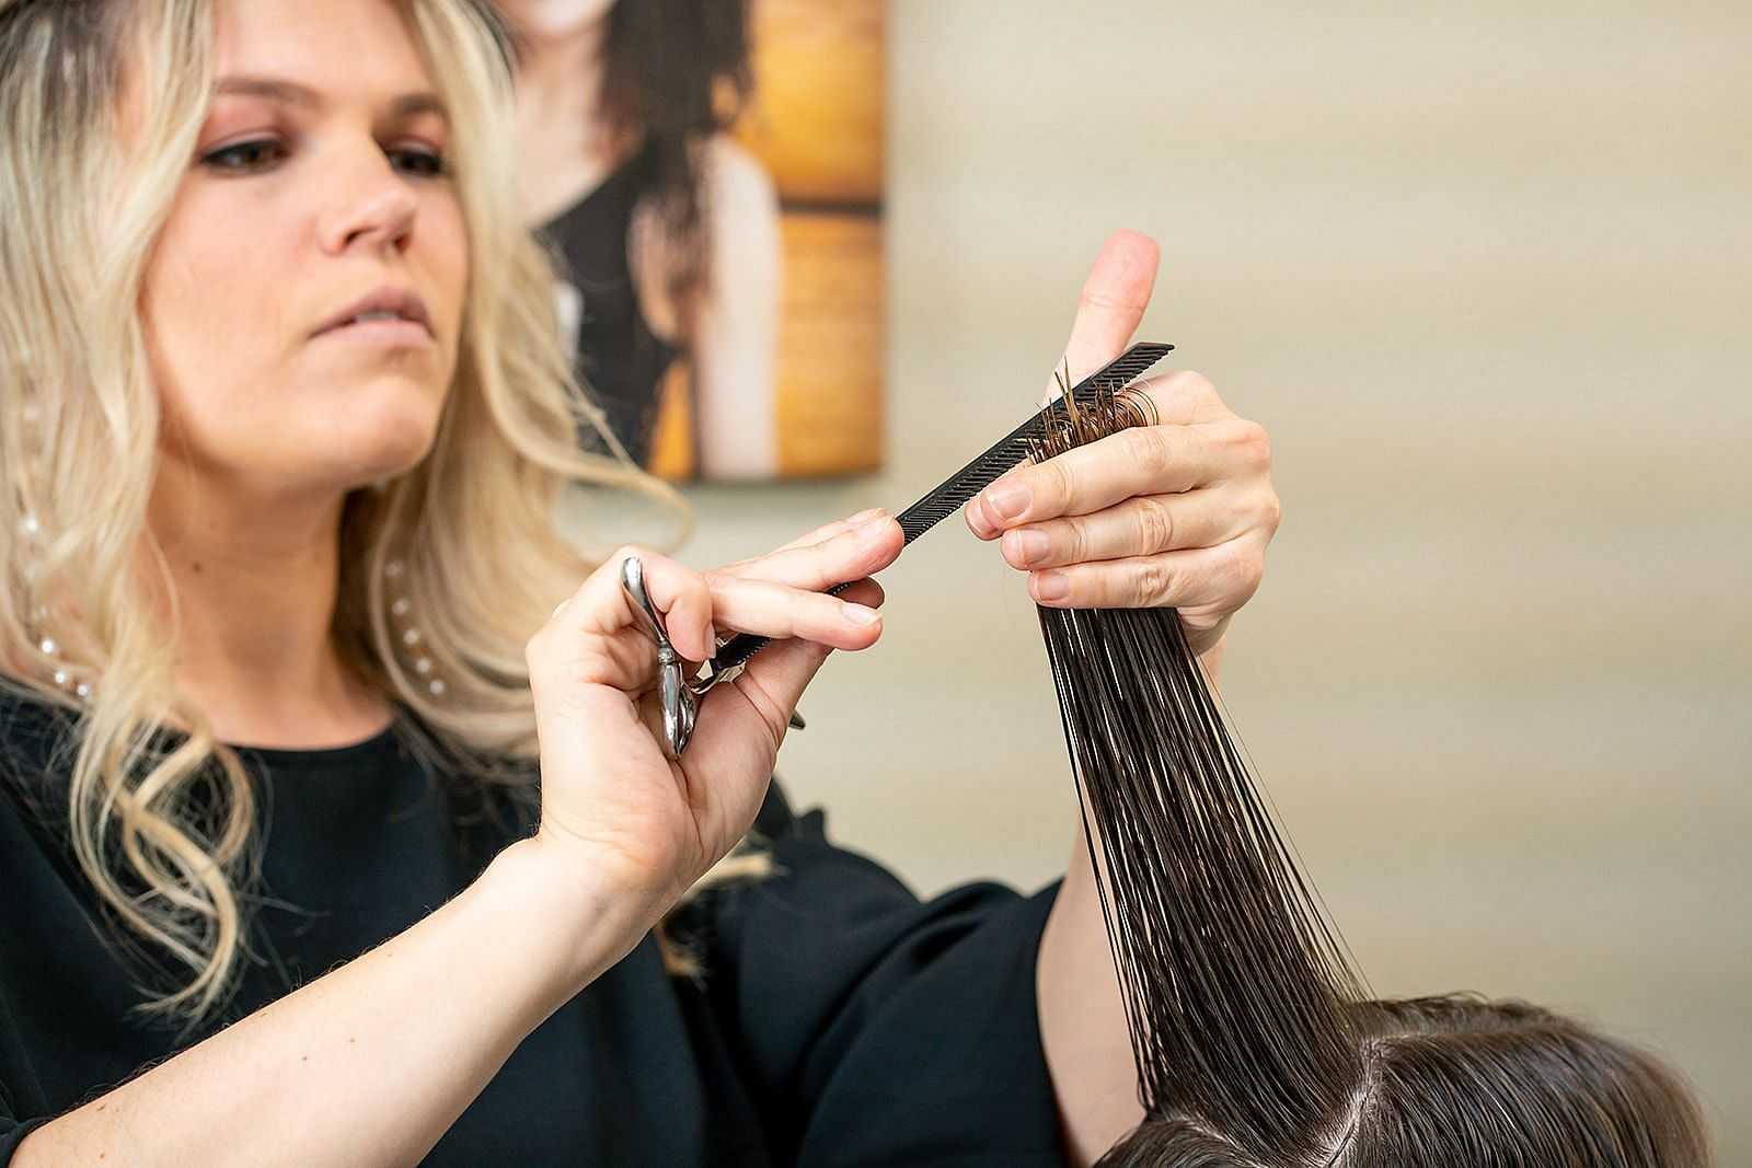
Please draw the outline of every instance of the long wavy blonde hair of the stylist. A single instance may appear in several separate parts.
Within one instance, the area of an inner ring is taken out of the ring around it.
[[[624,457],[576,448],[580,417],[604,427],[519,217],[498,19],[477,0],[399,7],[450,112],[470,285],[431,454],[345,501],[333,636],[434,751],[527,792],[524,644],[594,567],[559,534],[561,494],[636,490],[678,508],[683,529],[687,504]],[[249,772],[179,692],[175,594],[147,527],[159,398],[140,282],[207,117],[210,40],[210,0],[0,0],[0,683],[75,711],[72,851],[121,937],[175,963],[179,986],[142,986],[135,1010],[187,1026],[235,988],[261,844]],[[142,96],[126,145],[124,89]],[[398,653],[391,560],[442,699]],[[154,595],[172,597],[168,629]],[[212,807],[198,788],[219,795]]]

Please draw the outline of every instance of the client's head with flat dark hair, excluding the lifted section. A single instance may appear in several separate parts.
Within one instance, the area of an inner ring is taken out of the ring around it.
[[[1247,1149],[1207,1117],[1141,1124],[1102,1168],[1694,1168],[1708,1163],[1684,1084],[1624,1042],[1524,1002],[1472,995],[1346,1010],[1358,1077],[1305,1084],[1332,1115]],[[1265,1066],[1230,1087],[1267,1094]],[[1339,1089],[1333,1089],[1339,1087]]]

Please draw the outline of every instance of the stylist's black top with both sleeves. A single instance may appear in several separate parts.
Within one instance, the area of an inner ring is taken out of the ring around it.
[[[140,993],[54,827],[65,728],[0,693],[0,1168],[30,1128],[217,1028],[177,1044],[124,1016]],[[478,786],[429,774],[406,734],[245,753],[272,804],[272,900],[226,1017],[406,930],[531,830],[529,813],[477,814]],[[830,844],[820,811],[792,814],[776,783],[757,827],[778,874],[675,921],[703,984],[664,974],[646,937],[517,1047],[424,1163],[1062,1163],[1034,993],[1056,888],[922,904]]]

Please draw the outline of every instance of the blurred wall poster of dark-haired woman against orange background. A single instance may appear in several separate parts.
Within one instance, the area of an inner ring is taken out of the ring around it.
[[[878,469],[881,0],[499,7],[580,443],[671,480]]]

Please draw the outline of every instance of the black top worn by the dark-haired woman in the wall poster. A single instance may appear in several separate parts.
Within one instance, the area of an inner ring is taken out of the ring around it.
[[[648,152],[634,152],[540,233],[571,289],[569,299],[582,308],[582,313],[561,313],[562,327],[578,320],[576,334],[564,338],[575,354],[578,380],[639,466],[650,464],[657,385],[678,352],[645,320],[627,261],[627,233],[648,166]],[[594,427],[580,427],[578,438],[585,450],[606,452]]]

